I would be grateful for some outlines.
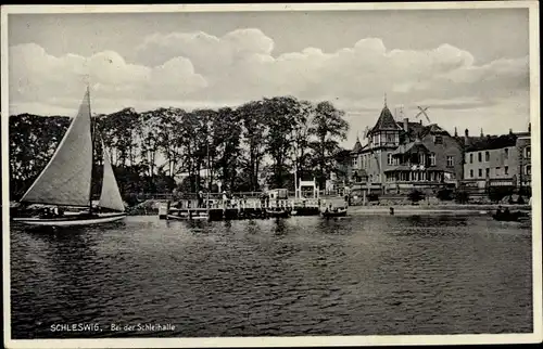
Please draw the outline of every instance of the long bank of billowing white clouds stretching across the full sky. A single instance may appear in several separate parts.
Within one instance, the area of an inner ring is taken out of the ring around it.
[[[73,105],[89,70],[99,112],[126,106],[214,107],[292,94],[331,100],[365,115],[362,119],[371,125],[388,93],[391,105],[426,103],[432,105],[435,121],[465,128],[460,124],[473,122],[473,113],[479,113],[478,122],[496,127],[496,115],[528,108],[527,56],[478,65],[471,53],[446,43],[409,51],[389,49],[378,38],[336,52],[306,48],[274,56],[273,50],[274,40],[252,28],[222,37],[202,31],[154,34],[142,38],[137,62],[131,63],[114,51],[86,60],[73,54],[56,57],[37,44],[22,44],[10,49],[10,98],[17,111],[37,103],[52,108]],[[355,120],[353,128],[364,128],[357,125],[361,118],[350,119]]]

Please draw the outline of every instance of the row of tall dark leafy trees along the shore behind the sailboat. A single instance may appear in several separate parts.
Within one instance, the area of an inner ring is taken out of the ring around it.
[[[338,171],[344,112],[325,101],[293,96],[251,101],[238,107],[138,113],[134,108],[93,117],[97,154],[103,145],[123,194],[178,190],[231,192],[288,188],[315,178],[320,188]],[[13,199],[24,194],[47,165],[71,119],[21,114],[10,117],[10,183]],[[94,170],[101,171],[96,156]],[[211,174],[204,180],[202,171]],[[96,176],[98,193],[101,177]]]

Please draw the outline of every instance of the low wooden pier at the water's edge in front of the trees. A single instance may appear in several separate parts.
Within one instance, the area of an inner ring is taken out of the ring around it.
[[[239,199],[239,201],[209,201],[198,206],[195,199],[184,199],[176,203],[168,202],[160,207],[159,218],[167,220],[236,220],[263,219],[273,217],[277,210],[288,212],[287,216],[318,216],[321,207],[333,205],[333,201],[307,199]],[[338,201],[336,201],[338,202]],[[333,206],[338,206],[337,204]],[[344,205],[340,205],[344,206]]]

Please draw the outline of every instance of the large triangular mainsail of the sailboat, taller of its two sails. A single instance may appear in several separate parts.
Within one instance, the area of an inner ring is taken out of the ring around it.
[[[22,202],[89,206],[92,176],[90,98],[85,93],[79,112],[72,120],[53,157]]]

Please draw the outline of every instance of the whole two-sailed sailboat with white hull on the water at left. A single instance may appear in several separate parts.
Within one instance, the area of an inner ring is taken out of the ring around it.
[[[23,205],[41,204],[81,208],[78,212],[45,214],[14,221],[47,227],[89,225],[113,222],[126,216],[117,181],[102,142],[103,179],[98,207],[92,207],[92,155],[94,151],[87,91],[77,115],[72,120],[45,169],[21,198]],[[103,209],[109,212],[101,212]]]

